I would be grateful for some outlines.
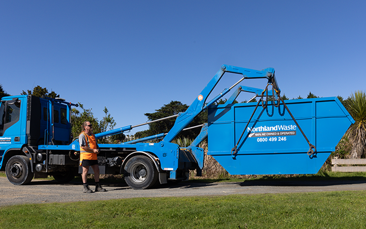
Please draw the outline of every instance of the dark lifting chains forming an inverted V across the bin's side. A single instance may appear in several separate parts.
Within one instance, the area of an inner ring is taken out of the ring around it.
[[[242,136],[244,135],[245,130],[248,128],[249,123],[251,122],[251,120],[252,120],[252,118],[253,118],[253,116],[254,116],[254,113],[256,112],[256,110],[257,110],[257,108],[258,108],[259,103],[262,101],[262,107],[263,107],[263,109],[267,108],[267,106],[268,106],[268,85],[269,85],[269,84],[270,84],[270,83],[268,83],[268,84],[267,84],[266,88],[265,88],[265,89],[264,89],[264,91],[261,93],[261,96],[260,96],[261,98],[259,99],[259,101],[258,101],[258,103],[257,103],[256,107],[254,108],[254,111],[253,111],[253,113],[252,113],[252,116],[251,116],[251,118],[249,119],[249,121],[248,121],[248,123],[247,123],[247,126],[244,128],[244,131],[241,133],[241,135],[240,135],[240,137],[239,137],[239,140],[237,141],[237,143],[236,143],[235,147],[231,149],[231,154],[232,154],[233,156],[237,153],[237,146],[239,145],[239,142],[240,142],[240,140],[241,140]],[[276,94],[277,94],[277,104],[276,104],[276,100],[275,100],[275,91],[276,91]],[[266,100],[265,100],[265,102],[264,102],[264,99],[263,99],[264,92],[266,93]],[[304,136],[304,138],[307,140],[307,142],[308,142],[308,144],[309,144],[309,151],[308,151],[308,153],[307,153],[307,154],[308,154],[309,156],[312,156],[313,154],[315,154],[315,153],[316,153],[316,148],[315,148],[315,146],[314,146],[314,145],[312,145],[312,144],[310,143],[310,141],[309,141],[308,137],[305,135],[305,133],[302,131],[301,127],[298,125],[298,123],[297,123],[296,119],[293,117],[293,115],[292,115],[292,113],[291,113],[290,109],[287,107],[287,105],[286,105],[285,101],[283,100],[283,98],[281,98],[280,93],[281,93],[281,92],[280,92],[279,90],[275,89],[275,87],[273,87],[273,85],[272,85],[272,101],[273,101],[273,102],[272,102],[272,105],[273,105],[273,106],[275,106],[275,107],[279,107],[279,106],[280,106],[280,101],[282,101],[282,103],[284,104],[284,106],[285,106],[285,108],[286,108],[287,112],[288,112],[288,113],[289,113],[289,115],[291,116],[292,120],[295,122],[296,126],[299,128],[299,130],[301,131],[302,135]]]

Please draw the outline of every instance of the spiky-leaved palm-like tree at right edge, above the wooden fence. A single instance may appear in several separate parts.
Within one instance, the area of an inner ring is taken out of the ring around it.
[[[351,158],[361,158],[366,154],[366,93],[356,91],[346,100],[346,108],[355,123],[348,129],[353,142]]]

